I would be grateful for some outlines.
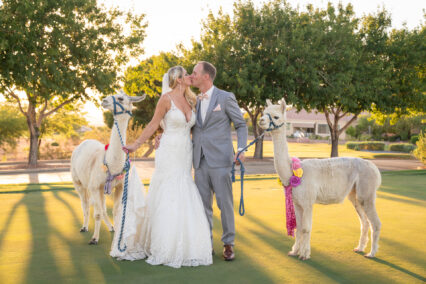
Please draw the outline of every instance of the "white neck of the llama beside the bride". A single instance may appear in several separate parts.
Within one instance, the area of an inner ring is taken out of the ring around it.
[[[126,145],[126,132],[129,123],[128,115],[120,115],[116,118],[117,125],[120,128],[121,137],[124,145]],[[105,160],[108,163],[111,174],[118,174],[123,170],[126,161],[126,154],[122,149],[120,136],[118,135],[117,125],[114,123],[111,130],[111,137],[109,139],[109,147],[106,152]]]

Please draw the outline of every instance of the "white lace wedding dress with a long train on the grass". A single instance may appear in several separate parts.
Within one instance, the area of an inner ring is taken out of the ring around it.
[[[131,242],[130,247],[127,244],[128,252],[120,253],[112,247],[111,255],[128,260],[147,258],[152,265],[175,268],[210,265],[213,262],[210,229],[191,175],[190,131],[195,124],[195,113],[191,113],[187,122],[172,100],[163,124],[164,133],[155,153],[155,171],[146,196],[143,222],[133,230],[136,237],[127,237]],[[130,214],[126,214],[127,218]],[[117,244],[116,236],[113,246],[114,243]]]

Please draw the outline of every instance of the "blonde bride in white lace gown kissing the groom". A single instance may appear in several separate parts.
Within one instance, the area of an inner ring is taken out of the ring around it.
[[[152,265],[175,268],[212,263],[210,229],[191,175],[190,133],[196,121],[196,96],[190,85],[191,78],[183,67],[170,68],[163,78],[163,95],[151,122],[134,143],[124,147],[134,152],[154,134],[161,121],[164,124],[144,220],[135,230],[138,236],[133,247],[140,251],[120,255],[122,259],[147,258]]]

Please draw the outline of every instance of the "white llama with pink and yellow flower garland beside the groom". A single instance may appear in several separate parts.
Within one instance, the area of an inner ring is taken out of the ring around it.
[[[274,165],[284,185],[289,184],[292,160],[286,139],[286,103],[273,105],[267,100],[264,115],[259,121],[262,129],[272,129]],[[283,127],[271,126],[283,125]],[[301,162],[301,184],[293,188],[296,215],[296,240],[289,252],[305,260],[310,258],[312,207],[314,203],[341,203],[347,196],[354,205],[361,222],[361,237],[356,252],[363,252],[368,242],[368,227],[371,228],[371,251],[366,257],[377,253],[381,223],[376,212],[376,190],[381,184],[381,175],[370,161],[360,158],[306,159]]]

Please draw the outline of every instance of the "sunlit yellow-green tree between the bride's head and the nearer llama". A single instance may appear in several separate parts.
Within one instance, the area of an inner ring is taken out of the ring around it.
[[[143,60],[139,65],[127,69],[124,90],[128,94],[147,94],[143,103],[133,111],[131,128],[145,127],[154,115],[155,107],[161,94],[163,75],[167,70],[179,64],[179,58],[172,53],[162,52]],[[106,115],[106,118],[108,115]],[[111,119],[106,119],[106,121]],[[154,151],[153,137],[148,140],[148,150],[143,154],[148,157]]]

